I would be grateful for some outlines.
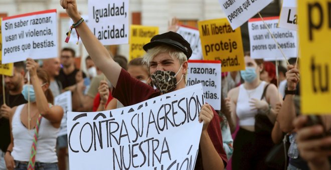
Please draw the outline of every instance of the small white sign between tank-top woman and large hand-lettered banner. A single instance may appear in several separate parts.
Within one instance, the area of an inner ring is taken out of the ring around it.
[[[72,111],[71,91],[65,91],[54,98],[54,105],[63,108],[63,117],[58,136],[67,134],[67,112]]]

